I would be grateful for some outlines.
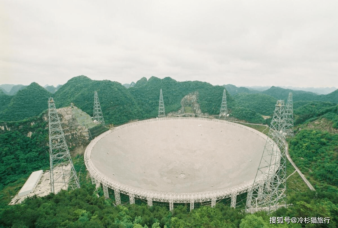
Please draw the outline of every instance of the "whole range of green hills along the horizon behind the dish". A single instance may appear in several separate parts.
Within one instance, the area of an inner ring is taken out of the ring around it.
[[[275,86],[259,91],[231,84],[214,86],[200,81],[178,82],[170,77],[164,79],[151,77],[149,80],[143,77],[126,88],[119,82],[92,80],[82,75],[74,77],[66,84],[56,88],[48,85],[45,87],[50,88],[49,91],[37,83],[31,83],[15,95],[8,95],[0,90],[0,120],[14,121],[37,116],[48,109],[47,101],[51,96],[54,98],[57,108],[67,107],[70,103],[74,103],[92,116],[94,91],[98,92],[105,122],[113,124],[156,117],[160,89],[163,91],[167,114],[177,112],[181,108],[181,99],[189,93],[198,91],[197,102],[201,112],[217,116],[225,88],[227,107],[231,116],[256,123],[264,123],[261,115],[272,115],[276,100],[286,101],[290,92],[293,93],[293,101],[298,102],[298,105],[308,104],[309,101],[331,102],[333,104],[337,104],[338,101],[338,90],[327,95]]]

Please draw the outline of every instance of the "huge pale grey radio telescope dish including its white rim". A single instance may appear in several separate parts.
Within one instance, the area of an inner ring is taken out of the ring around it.
[[[87,146],[92,178],[117,193],[152,201],[212,201],[247,192],[254,184],[264,147],[272,165],[280,151],[263,133],[233,122],[206,118],[157,118],[104,132]],[[263,172],[256,187],[271,176]]]

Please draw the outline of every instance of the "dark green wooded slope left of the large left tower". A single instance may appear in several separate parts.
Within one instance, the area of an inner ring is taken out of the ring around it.
[[[11,131],[0,134],[0,190],[31,172],[49,167],[47,122],[42,116],[18,122],[0,122]]]

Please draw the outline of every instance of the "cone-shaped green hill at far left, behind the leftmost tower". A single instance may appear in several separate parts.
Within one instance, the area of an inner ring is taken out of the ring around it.
[[[38,116],[48,109],[47,102],[50,96],[50,92],[33,82],[11,96],[10,102],[4,106],[0,113],[0,120],[16,121]]]

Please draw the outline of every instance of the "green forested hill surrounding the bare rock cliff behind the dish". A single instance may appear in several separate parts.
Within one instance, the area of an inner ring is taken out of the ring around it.
[[[166,113],[178,111],[182,98],[191,92],[198,91],[198,103],[202,113],[219,114],[224,87],[213,86],[207,82],[177,82],[170,77],[164,79],[151,77],[148,81],[142,78],[134,87],[128,89],[145,114],[144,118],[153,118],[158,115],[160,89],[162,89]],[[233,107],[233,98],[228,93],[227,105],[229,109]]]

